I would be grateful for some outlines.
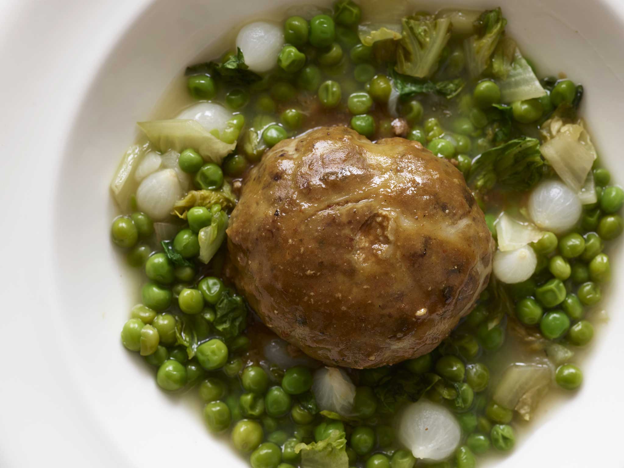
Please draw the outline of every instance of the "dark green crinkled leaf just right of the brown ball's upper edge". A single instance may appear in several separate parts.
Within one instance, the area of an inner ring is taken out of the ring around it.
[[[539,140],[520,137],[489,149],[472,161],[468,182],[477,190],[490,190],[499,183],[501,190],[529,190],[544,175]]]

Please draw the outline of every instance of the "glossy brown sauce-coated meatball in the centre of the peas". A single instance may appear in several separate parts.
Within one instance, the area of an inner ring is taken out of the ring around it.
[[[451,162],[346,127],[266,152],[227,233],[228,274],[264,323],[351,368],[435,348],[487,285],[494,249]]]

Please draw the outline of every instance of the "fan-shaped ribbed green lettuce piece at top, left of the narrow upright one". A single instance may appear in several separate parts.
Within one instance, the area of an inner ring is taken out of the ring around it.
[[[442,49],[451,38],[451,19],[409,16],[402,19],[402,25],[396,71],[417,78],[431,76],[437,69]]]

